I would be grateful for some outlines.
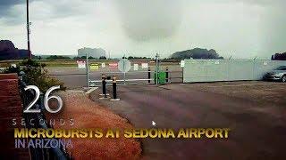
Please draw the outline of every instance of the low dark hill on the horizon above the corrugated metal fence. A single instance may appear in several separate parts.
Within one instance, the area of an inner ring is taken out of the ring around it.
[[[171,55],[172,59],[223,59],[215,50],[206,50],[202,48],[194,48],[182,52],[175,52]]]

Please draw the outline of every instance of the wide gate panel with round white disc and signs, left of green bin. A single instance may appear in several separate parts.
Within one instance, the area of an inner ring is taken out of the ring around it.
[[[112,76],[117,76],[118,85],[154,84],[155,60],[87,60],[88,86],[101,86],[105,74],[106,85],[112,84]]]

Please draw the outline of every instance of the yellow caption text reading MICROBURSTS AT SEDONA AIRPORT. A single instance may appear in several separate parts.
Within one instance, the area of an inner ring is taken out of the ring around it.
[[[42,128],[15,128],[14,138],[48,138],[48,139],[86,139],[86,138],[207,138],[207,139],[227,139],[230,128],[181,128],[173,130],[172,128],[150,128],[150,129],[42,129]]]

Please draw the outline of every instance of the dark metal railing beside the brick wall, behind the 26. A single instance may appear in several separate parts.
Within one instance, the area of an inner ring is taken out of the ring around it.
[[[30,90],[25,91],[24,88],[27,86],[23,81],[22,77],[24,76],[21,73],[19,86],[20,86],[20,93],[21,93],[21,103],[23,109],[29,105],[29,103],[34,100],[35,92]],[[43,110],[44,108],[44,95],[41,93],[39,100],[35,104],[33,108],[40,108]],[[26,128],[43,128],[48,129],[52,128],[49,124],[43,123],[40,124],[40,120],[45,120],[46,116],[43,113],[25,113],[23,114],[23,118],[25,119],[25,126]],[[33,124],[30,124],[31,120],[33,119]],[[66,152],[65,148],[29,148],[29,155],[30,159],[59,159],[59,160],[66,160],[72,159],[71,156]]]

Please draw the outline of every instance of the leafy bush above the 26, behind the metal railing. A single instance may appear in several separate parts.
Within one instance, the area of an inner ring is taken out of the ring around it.
[[[4,73],[17,73],[21,71],[25,73],[23,81],[29,85],[36,85],[41,92],[46,92],[50,87],[60,85],[61,90],[65,90],[63,82],[55,79],[55,77],[49,76],[45,64],[41,64],[36,60],[23,60],[16,68],[9,67],[4,69]]]

